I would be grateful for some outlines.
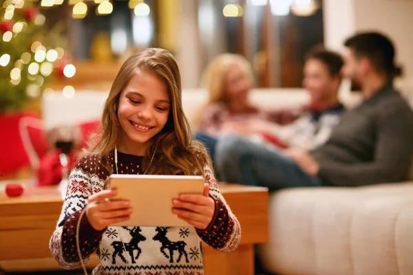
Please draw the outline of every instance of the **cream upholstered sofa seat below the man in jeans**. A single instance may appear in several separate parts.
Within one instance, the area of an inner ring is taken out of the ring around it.
[[[270,196],[264,267],[290,275],[413,274],[413,184]]]

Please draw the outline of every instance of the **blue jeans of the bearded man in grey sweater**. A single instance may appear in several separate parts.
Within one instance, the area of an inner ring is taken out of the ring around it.
[[[318,177],[308,175],[281,152],[238,135],[220,138],[215,154],[221,181],[264,186],[270,191],[289,187],[321,186]]]

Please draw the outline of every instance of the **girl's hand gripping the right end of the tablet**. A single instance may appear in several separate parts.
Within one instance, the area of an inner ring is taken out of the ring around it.
[[[208,227],[215,212],[215,202],[209,197],[209,184],[204,184],[202,195],[181,194],[172,204],[173,214],[200,230]]]

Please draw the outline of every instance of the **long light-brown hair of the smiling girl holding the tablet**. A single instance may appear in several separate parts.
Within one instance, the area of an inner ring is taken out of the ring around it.
[[[165,82],[171,98],[171,109],[164,128],[152,137],[151,146],[142,160],[142,169],[149,175],[202,175],[203,166],[211,160],[200,142],[192,140],[188,120],[182,109],[182,88],[180,72],[175,58],[167,50],[148,48],[132,54],[116,76],[105,102],[100,131],[92,140],[89,154],[97,154],[100,162],[107,164],[109,173],[113,168],[108,164],[108,155],[120,140],[123,131],[115,109],[120,93],[137,70],[155,74]],[[149,166],[150,157],[155,154]],[[195,171],[195,172],[194,172]]]

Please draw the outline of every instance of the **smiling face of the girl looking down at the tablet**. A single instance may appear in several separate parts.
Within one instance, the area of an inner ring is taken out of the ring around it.
[[[167,85],[155,74],[136,72],[119,98],[119,148],[124,153],[145,155],[151,138],[167,123],[170,109]]]

